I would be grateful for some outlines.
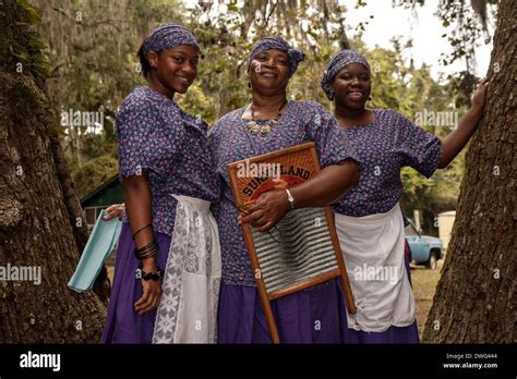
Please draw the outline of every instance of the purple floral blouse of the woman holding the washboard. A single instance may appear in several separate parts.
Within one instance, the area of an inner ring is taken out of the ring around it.
[[[320,103],[289,101],[279,123],[268,136],[251,134],[243,120],[244,108],[235,110],[217,121],[208,135],[215,159],[215,172],[221,183],[221,198],[213,206],[219,227],[223,281],[226,284],[254,285],[254,278],[238,212],[230,188],[227,164],[257,155],[314,142],[323,167],[347,158],[359,161],[339,131],[336,119]],[[266,120],[258,121],[265,123]]]

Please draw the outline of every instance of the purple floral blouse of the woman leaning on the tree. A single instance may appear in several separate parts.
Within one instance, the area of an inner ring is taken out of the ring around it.
[[[342,130],[361,162],[359,184],[334,205],[337,213],[363,217],[385,213],[400,199],[400,169],[409,166],[430,178],[442,155],[442,142],[401,114],[374,110],[375,121]]]

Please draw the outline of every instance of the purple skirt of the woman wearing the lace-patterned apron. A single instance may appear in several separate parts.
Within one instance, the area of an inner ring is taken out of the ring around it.
[[[158,267],[165,268],[171,239],[167,234],[155,233],[155,240],[159,246]],[[131,228],[124,222],[117,249],[108,318],[100,343],[151,343],[153,340],[156,309],[142,316],[134,310],[134,303],[142,297],[141,280],[135,278],[140,260],[134,249]]]

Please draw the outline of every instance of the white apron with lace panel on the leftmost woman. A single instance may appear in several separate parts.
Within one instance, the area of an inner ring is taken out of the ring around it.
[[[216,343],[221,274],[211,203],[182,195],[165,268],[153,343]]]

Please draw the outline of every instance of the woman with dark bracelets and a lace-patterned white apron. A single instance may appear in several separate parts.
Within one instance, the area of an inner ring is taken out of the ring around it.
[[[173,100],[195,80],[199,54],[184,27],[153,30],[139,51],[148,86],[117,112],[125,215],[105,343],[215,342],[220,255],[209,205],[219,185],[206,124]]]

